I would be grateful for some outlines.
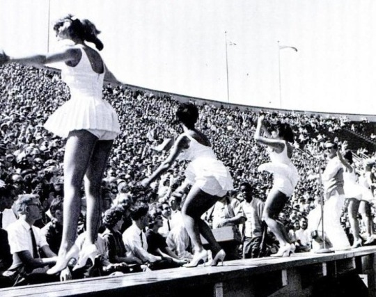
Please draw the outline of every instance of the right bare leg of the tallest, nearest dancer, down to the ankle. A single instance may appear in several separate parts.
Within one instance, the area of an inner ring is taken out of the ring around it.
[[[91,156],[86,175],[86,241],[95,243],[101,219],[101,184],[113,141],[98,141]]]

